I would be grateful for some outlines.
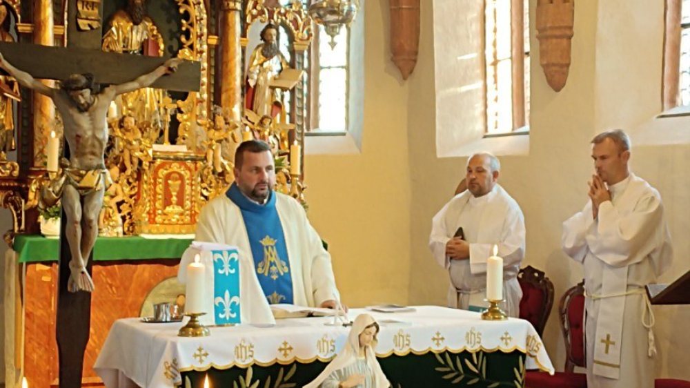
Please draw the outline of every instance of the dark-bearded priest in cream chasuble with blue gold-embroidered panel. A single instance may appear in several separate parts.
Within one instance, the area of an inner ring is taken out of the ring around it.
[[[270,304],[335,308],[331,255],[293,197],[273,191],[268,144],[250,140],[235,153],[235,182],[201,209],[196,240],[237,246],[251,258]]]

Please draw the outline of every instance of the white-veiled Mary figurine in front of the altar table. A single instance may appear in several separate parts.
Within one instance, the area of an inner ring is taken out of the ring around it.
[[[369,314],[359,314],[347,342],[326,369],[304,388],[388,388],[374,349],[379,324]]]

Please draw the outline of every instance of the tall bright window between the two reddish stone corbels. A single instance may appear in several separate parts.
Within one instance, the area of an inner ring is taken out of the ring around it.
[[[529,1],[486,0],[486,135],[529,123]]]

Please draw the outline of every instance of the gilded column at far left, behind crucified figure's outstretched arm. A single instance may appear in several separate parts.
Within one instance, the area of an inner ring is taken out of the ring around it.
[[[34,43],[43,46],[55,46],[52,22],[52,1],[35,0],[34,14]],[[53,81],[43,80],[43,83],[52,86]],[[34,103],[34,167],[45,168],[46,142],[50,136],[55,119],[55,106],[50,98],[33,93]]]

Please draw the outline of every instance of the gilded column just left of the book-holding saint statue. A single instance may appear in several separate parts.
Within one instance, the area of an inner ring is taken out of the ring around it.
[[[242,17],[241,0],[223,0],[221,3],[221,97],[222,108],[232,112],[233,119],[241,119],[242,112],[242,46],[239,37],[242,34],[240,17]]]

